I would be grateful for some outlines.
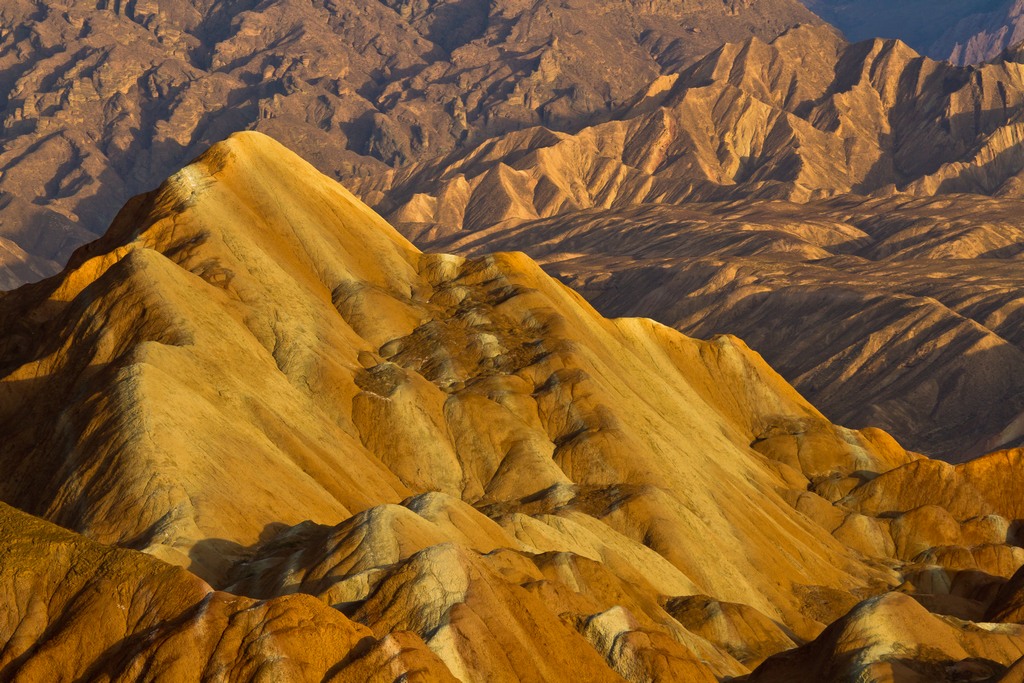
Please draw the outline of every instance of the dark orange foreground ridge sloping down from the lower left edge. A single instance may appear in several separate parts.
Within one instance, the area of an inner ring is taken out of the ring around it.
[[[378,640],[307,596],[215,592],[3,504],[0,530],[4,680],[454,680],[413,634]]]

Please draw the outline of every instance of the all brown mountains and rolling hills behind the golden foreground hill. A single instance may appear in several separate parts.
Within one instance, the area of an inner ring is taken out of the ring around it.
[[[830,419],[958,461],[1024,434],[1021,61],[851,44],[787,0],[4,3],[0,288],[252,128],[421,248],[495,236],[603,312],[740,334]],[[590,220],[617,237],[539,246]]]

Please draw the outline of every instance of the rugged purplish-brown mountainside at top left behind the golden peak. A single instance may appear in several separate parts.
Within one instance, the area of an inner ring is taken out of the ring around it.
[[[817,20],[797,0],[9,0],[0,193],[99,233],[130,196],[238,130],[353,177],[605,118],[723,42]],[[59,248],[15,242],[38,271],[65,263]],[[10,267],[0,285],[34,279]]]

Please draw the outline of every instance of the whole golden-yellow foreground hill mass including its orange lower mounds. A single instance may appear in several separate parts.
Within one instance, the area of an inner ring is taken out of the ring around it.
[[[257,133],[0,298],[0,328],[7,678],[1024,655],[1024,453],[951,466],[835,426],[737,339],[606,319],[522,254],[420,253]]]

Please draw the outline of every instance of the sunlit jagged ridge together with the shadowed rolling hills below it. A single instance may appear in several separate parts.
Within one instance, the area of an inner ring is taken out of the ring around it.
[[[424,249],[522,250],[602,313],[738,334],[830,418],[955,460],[1024,437],[1019,61],[799,27],[612,121],[352,186]]]

